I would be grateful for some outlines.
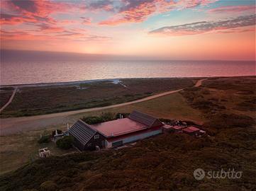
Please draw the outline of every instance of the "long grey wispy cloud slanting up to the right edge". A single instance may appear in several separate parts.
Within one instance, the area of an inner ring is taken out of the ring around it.
[[[223,21],[201,21],[184,25],[172,25],[150,31],[150,34],[196,35],[217,30],[228,30],[255,25],[255,16],[238,16]]]

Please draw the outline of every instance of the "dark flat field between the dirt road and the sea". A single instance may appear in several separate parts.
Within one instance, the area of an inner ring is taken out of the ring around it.
[[[98,81],[68,86],[23,87],[0,116],[41,115],[103,107],[193,85],[192,79],[123,79],[117,84]]]

